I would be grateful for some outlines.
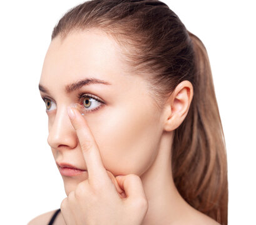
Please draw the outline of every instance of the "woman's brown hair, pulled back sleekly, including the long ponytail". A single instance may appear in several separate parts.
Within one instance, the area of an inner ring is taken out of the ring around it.
[[[227,156],[207,50],[168,6],[155,0],[93,0],[70,9],[51,39],[99,29],[123,47],[131,73],[144,75],[159,109],[182,81],[193,85],[187,117],[174,131],[172,173],[191,206],[227,224]],[[129,50],[129,51],[128,51]]]

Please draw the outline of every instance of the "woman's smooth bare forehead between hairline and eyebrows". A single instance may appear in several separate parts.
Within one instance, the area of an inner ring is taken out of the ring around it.
[[[103,79],[111,84],[129,79],[129,67],[123,61],[121,47],[103,31],[74,31],[64,40],[51,41],[44,58],[40,84],[65,85],[84,78]],[[123,75],[123,76],[122,76]]]

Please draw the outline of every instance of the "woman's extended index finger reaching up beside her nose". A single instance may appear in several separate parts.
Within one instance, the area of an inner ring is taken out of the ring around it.
[[[89,181],[93,181],[94,179],[100,181],[109,179],[101,160],[100,150],[86,120],[75,108],[68,107],[68,115],[79,139],[81,151],[87,166]]]

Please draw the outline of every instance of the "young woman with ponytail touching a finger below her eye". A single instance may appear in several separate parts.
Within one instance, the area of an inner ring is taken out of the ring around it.
[[[93,0],[54,27],[39,90],[67,197],[33,224],[227,224],[207,51],[160,1]]]

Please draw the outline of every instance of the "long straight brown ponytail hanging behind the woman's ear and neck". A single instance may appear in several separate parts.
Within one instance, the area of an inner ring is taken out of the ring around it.
[[[173,179],[195,209],[227,224],[227,155],[207,50],[188,31],[195,54],[195,87],[188,115],[173,139]]]

